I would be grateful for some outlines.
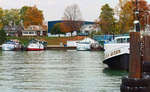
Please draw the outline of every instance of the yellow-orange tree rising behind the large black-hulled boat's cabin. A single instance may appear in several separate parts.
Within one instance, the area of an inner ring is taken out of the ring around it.
[[[119,14],[119,33],[127,33],[133,29],[134,12],[132,2],[120,2],[120,14]]]

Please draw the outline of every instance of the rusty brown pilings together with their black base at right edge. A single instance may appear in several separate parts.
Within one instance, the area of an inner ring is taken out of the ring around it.
[[[150,36],[143,38],[130,33],[129,76],[122,78],[121,92],[150,92]]]

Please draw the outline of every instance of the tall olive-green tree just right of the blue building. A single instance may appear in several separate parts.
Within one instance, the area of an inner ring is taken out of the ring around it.
[[[102,6],[99,20],[103,34],[115,34],[114,11],[108,4]]]

